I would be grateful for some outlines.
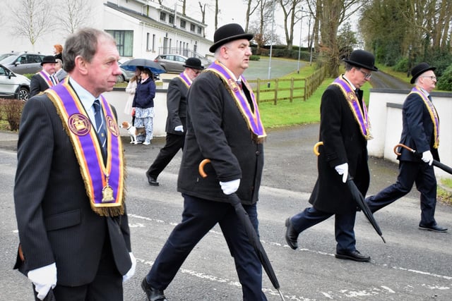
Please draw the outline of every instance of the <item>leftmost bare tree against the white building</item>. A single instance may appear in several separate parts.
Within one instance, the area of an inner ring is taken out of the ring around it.
[[[18,6],[12,9],[15,22],[12,31],[14,34],[26,37],[32,47],[37,39],[51,29],[48,12],[51,10],[47,0],[20,0]]]

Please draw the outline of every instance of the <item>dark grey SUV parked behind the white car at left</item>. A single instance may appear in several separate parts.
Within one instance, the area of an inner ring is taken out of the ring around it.
[[[14,73],[37,73],[42,69],[41,62],[43,58],[44,54],[40,53],[11,51],[0,55],[0,63]]]

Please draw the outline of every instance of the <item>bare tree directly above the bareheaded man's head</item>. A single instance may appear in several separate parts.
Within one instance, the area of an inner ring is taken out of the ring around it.
[[[93,16],[93,6],[90,0],[61,0],[62,10],[56,18],[61,23],[61,28],[72,34],[80,27],[90,23]]]

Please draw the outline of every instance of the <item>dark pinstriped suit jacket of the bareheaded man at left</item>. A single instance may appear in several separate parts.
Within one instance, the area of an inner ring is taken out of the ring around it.
[[[131,267],[127,215],[99,216],[90,207],[69,136],[47,94],[25,104],[18,139],[14,202],[24,274],[56,262],[60,285],[93,281],[109,235],[120,274]]]

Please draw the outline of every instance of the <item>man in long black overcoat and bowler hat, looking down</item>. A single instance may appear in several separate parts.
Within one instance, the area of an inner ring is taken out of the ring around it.
[[[367,109],[362,99],[364,83],[371,78],[374,55],[355,50],[345,59],[345,74],[323,92],[320,107],[319,178],[309,198],[312,207],[285,221],[285,240],[297,249],[299,233],[335,216],[335,240],[338,259],[369,262],[370,257],[356,249],[355,217],[357,204],[347,188],[350,173],[357,188],[366,195],[369,188],[367,140],[371,139]]]

